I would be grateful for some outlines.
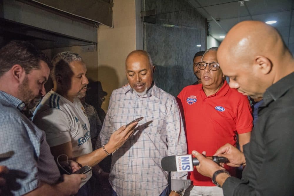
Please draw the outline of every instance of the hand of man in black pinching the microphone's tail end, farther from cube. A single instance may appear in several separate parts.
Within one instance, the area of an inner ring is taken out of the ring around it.
[[[226,164],[231,167],[239,167],[246,164],[243,152],[228,143],[220,147],[213,156],[226,157],[230,161]]]

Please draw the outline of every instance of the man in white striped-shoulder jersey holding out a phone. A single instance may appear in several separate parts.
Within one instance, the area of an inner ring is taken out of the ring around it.
[[[93,167],[122,146],[137,123],[128,128],[120,127],[103,148],[92,152],[89,120],[78,99],[86,94],[86,65],[80,55],[72,52],[58,53],[52,59],[52,64],[54,88],[36,108],[33,121],[46,132],[46,140],[54,158],[66,154],[81,165]],[[88,195],[89,192],[90,187],[86,184],[78,195]]]

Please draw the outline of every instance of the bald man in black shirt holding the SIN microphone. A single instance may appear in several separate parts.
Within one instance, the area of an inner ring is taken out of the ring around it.
[[[263,97],[250,142],[244,154],[226,144],[216,155],[228,165],[246,165],[242,180],[193,151],[198,172],[211,177],[224,195],[294,194],[294,59],[278,31],[259,21],[234,26],[217,57],[230,87],[256,99]]]

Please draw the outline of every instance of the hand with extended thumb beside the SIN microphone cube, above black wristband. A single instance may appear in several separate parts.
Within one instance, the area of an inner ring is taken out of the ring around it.
[[[192,151],[192,154],[199,160],[199,165],[196,166],[196,169],[201,175],[212,178],[213,173],[215,173],[217,170],[225,169],[197,151]],[[206,152],[203,152],[203,154],[205,155]]]

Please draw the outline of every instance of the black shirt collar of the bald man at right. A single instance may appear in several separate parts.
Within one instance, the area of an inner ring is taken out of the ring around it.
[[[263,101],[265,106],[272,101],[276,101],[278,98],[282,97],[290,88],[294,87],[294,72],[283,77],[278,82],[274,83],[268,89],[266,89],[263,94]]]

